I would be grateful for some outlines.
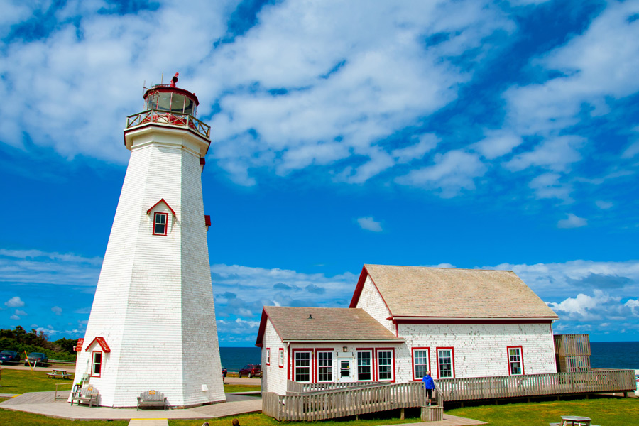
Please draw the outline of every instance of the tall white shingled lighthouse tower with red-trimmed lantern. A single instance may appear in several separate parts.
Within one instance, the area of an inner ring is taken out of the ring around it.
[[[177,81],[148,89],[127,119],[131,158],[78,343],[74,383],[88,380],[107,407],[150,390],[178,408],[226,399],[200,176],[210,128]]]

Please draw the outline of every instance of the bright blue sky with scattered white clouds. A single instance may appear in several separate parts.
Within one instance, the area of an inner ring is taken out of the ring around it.
[[[82,337],[143,84],[180,72],[219,339],[364,263],[510,269],[639,340],[639,2],[6,1],[0,327]]]

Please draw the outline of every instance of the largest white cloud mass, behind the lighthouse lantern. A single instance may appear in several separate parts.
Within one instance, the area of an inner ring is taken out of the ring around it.
[[[33,6],[38,13],[16,6],[5,15],[7,25],[27,12],[59,21],[48,37],[2,50],[0,141],[24,148],[25,132],[67,158],[124,163],[119,129],[140,108],[139,86],[158,83],[158,70],[181,71],[178,84],[197,92],[200,116],[215,129],[209,155],[241,185],[255,185],[258,169],[315,167],[361,184],[398,165],[389,179],[419,167],[437,136],[404,148],[381,143],[457,99],[472,77],[464,62],[496,50],[485,38],[515,31],[488,1],[281,1],[263,6],[246,33],[216,44],[236,1],[166,2],[124,16],[73,5]],[[183,28],[197,34],[187,49]],[[444,36],[426,45],[431,35]]]

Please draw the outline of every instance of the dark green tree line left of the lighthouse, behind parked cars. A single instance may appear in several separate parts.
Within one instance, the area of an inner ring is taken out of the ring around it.
[[[16,351],[22,358],[24,353],[43,352],[49,359],[75,361],[77,339],[58,339],[51,342],[48,334],[31,329],[27,332],[21,326],[15,329],[0,329],[0,350]]]

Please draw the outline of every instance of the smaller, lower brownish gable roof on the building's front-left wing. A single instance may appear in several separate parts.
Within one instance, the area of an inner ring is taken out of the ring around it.
[[[282,342],[404,342],[361,308],[265,306],[256,346],[262,346],[266,320]]]

